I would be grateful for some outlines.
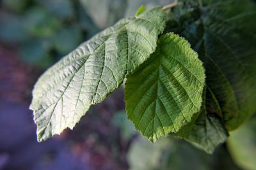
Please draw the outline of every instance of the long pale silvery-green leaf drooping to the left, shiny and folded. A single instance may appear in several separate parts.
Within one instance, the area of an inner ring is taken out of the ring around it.
[[[102,102],[156,49],[164,30],[161,8],[121,20],[48,69],[33,90],[38,141],[72,129],[90,106]]]

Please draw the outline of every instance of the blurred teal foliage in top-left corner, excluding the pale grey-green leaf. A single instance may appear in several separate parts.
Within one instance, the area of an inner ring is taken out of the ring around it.
[[[1,6],[0,41],[16,44],[24,62],[42,69],[99,31],[78,0],[3,0]]]

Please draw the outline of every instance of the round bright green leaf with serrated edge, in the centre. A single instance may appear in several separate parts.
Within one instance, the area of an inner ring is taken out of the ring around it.
[[[189,43],[175,34],[159,38],[156,52],[127,77],[129,120],[150,141],[179,131],[200,109],[204,68]]]

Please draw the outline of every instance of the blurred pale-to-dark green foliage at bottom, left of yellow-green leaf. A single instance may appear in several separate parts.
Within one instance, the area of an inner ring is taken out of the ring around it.
[[[212,155],[177,138],[161,138],[156,143],[139,136],[132,142],[127,160],[133,170],[239,170],[224,146]]]

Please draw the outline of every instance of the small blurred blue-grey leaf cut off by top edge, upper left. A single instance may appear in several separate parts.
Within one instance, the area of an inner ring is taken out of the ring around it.
[[[73,9],[71,0],[35,0],[36,3],[40,4],[45,10],[51,12],[56,17],[63,19],[72,18]]]

